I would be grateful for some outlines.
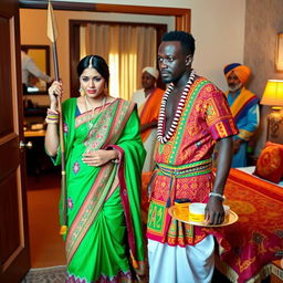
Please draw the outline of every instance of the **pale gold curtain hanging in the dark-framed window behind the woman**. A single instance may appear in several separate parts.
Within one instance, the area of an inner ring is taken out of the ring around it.
[[[142,70],[156,67],[156,29],[87,23],[81,32],[81,56],[96,54],[109,65],[109,94],[130,99],[142,87]]]

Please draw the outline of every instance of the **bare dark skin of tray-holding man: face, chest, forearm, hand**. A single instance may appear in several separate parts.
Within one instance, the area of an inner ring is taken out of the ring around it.
[[[166,104],[166,130],[168,132],[184,87],[191,72],[192,54],[186,51],[179,41],[164,41],[158,49],[158,65],[164,83],[174,83],[175,87]],[[198,76],[196,75],[195,80]],[[223,195],[224,185],[232,160],[232,137],[222,138],[219,144],[219,163],[213,184],[213,192]],[[224,221],[222,199],[211,196],[206,207],[206,221],[208,224],[220,224]]]

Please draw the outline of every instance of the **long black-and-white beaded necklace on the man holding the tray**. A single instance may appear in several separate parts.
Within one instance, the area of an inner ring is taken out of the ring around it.
[[[157,124],[157,139],[160,144],[166,144],[174,135],[174,133],[178,126],[179,119],[181,117],[182,108],[185,106],[189,90],[193,83],[195,76],[196,76],[196,72],[193,70],[191,70],[188,83],[186,84],[186,86],[182,91],[180,101],[179,101],[177,109],[175,112],[175,116],[174,116],[172,123],[170,125],[170,128],[168,129],[167,134],[164,136],[165,120],[166,120],[166,104],[167,104],[169,94],[171,93],[171,91],[174,88],[174,84],[170,83],[167,91],[165,92],[163,101],[161,101],[161,105],[160,105],[160,112],[159,112],[158,124]]]

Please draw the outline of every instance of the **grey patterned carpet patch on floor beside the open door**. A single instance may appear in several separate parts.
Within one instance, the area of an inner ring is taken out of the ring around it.
[[[66,280],[66,266],[52,266],[44,269],[31,269],[21,283],[64,283]]]

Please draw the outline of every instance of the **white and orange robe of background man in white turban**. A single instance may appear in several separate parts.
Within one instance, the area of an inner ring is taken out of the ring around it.
[[[144,90],[138,90],[133,94],[132,101],[138,106],[138,115],[142,125],[158,119],[163,94],[164,91],[160,88],[155,88],[147,97],[145,96]],[[156,145],[156,127],[146,129],[140,136],[147,153],[143,171],[153,171],[155,167],[154,151]]]

